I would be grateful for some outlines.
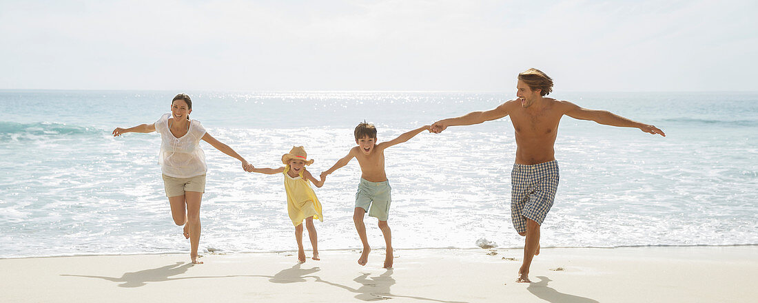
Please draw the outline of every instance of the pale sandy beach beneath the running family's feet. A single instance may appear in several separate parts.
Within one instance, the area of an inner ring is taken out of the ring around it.
[[[747,302],[758,300],[758,246],[543,248],[533,283],[515,283],[521,249],[357,250],[0,260],[4,302]]]

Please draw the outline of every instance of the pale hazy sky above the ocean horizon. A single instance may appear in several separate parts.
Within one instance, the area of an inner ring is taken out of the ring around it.
[[[758,91],[756,1],[7,1],[0,89]]]

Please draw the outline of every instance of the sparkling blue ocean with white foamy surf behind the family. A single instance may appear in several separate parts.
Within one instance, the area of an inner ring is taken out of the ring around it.
[[[0,90],[0,258],[186,253],[158,166],[160,136],[115,127],[154,123],[178,92]],[[193,119],[255,167],[280,167],[303,145],[315,175],[375,123],[379,141],[444,117],[488,110],[514,92],[188,92]],[[758,92],[556,92],[584,108],[666,132],[564,117],[561,180],[543,247],[758,245]],[[515,157],[508,117],[387,149],[394,248],[518,248],[510,220]],[[208,159],[200,251],[293,251],[283,176]],[[321,250],[360,248],[352,223],[353,160],[315,189]],[[377,220],[368,239],[384,247]],[[305,237],[307,239],[307,237]],[[305,240],[305,248],[309,243]]]

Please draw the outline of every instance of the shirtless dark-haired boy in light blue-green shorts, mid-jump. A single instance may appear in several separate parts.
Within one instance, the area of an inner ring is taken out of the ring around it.
[[[358,159],[358,164],[361,166],[361,183],[358,185],[358,192],[356,192],[356,209],[352,214],[358,236],[363,242],[363,252],[361,258],[358,259],[358,264],[365,265],[368,262],[368,252],[371,251],[366,238],[366,226],[363,223],[363,216],[368,212],[369,217],[376,217],[379,220],[379,229],[384,235],[384,242],[387,243],[387,257],[384,258],[384,268],[392,268],[392,236],[390,226],[387,225],[391,188],[387,174],[384,173],[384,149],[406,142],[418,133],[429,130],[429,127],[425,125],[408,133],[403,133],[390,141],[377,144],[376,127],[373,124],[360,123],[355,131],[358,146],[350,148],[350,152],[344,158],[337,161],[329,170],[321,173],[321,180],[325,180],[327,175],[347,165],[352,158]]]

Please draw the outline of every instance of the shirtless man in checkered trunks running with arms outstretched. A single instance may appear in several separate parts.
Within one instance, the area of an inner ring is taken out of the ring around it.
[[[567,115],[613,127],[634,127],[653,135],[666,134],[653,125],[629,120],[609,111],[590,110],[571,102],[546,98],[545,95],[553,91],[553,80],[534,68],[518,74],[516,89],[518,98],[490,111],[474,111],[461,117],[439,120],[430,131],[440,133],[447,127],[511,117],[516,140],[516,159],[511,172],[511,220],[516,232],[526,236],[524,262],[518,270],[516,282],[531,283],[531,260],[534,255],[540,254],[540,225],[553,206],[558,187],[554,145],[561,117]]]

